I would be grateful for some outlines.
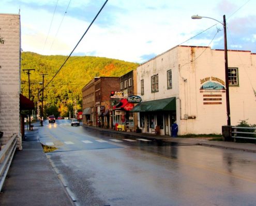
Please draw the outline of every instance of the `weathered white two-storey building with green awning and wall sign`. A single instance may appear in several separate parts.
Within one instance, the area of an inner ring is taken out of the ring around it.
[[[256,54],[228,50],[231,125],[256,124]],[[160,125],[170,135],[221,133],[227,125],[224,51],[210,47],[176,46],[137,68],[142,132]],[[154,106],[154,107],[152,107]]]

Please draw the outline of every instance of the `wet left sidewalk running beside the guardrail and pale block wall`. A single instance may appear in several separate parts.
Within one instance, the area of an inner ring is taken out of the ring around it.
[[[0,205],[74,205],[41,144],[38,127],[25,131],[23,150],[16,151],[5,180]]]

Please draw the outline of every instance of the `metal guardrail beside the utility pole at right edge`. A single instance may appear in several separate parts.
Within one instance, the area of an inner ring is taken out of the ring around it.
[[[239,131],[238,131],[239,130]],[[240,131],[242,130],[242,131]],[[249,132],[251,131],[252,132]],[[251,139],[256,140],[256,128],[255,127],[232,127],[232,138]]]

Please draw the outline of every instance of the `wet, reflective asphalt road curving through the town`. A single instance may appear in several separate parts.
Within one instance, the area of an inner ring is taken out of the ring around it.
[[[58,120],[40,142],[77,205],[255,205],[256,154],[124,138]]]

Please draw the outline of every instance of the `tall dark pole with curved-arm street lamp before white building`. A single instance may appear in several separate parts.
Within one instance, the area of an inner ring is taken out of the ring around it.
[[[231,126],[231,120],[230,120],[230,102],[229,102],[229,67],[228,67],[228,49],[227,49],[227,31],[226,31],[226,18],[225,15],[223,15],[223,23],[210,18],[206,16],[199,16],[199,15],[192,15],[192,19],[202,19],[202,18],[207,18],[207,19],[212,19],[220,24],[223,25],[223,30],[224,30],[224,59],[225,59],[225,87],[226,87],[226,104],[227,104],[227,125]]]

